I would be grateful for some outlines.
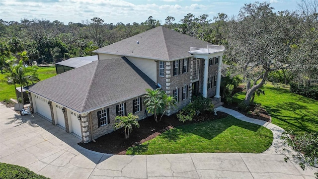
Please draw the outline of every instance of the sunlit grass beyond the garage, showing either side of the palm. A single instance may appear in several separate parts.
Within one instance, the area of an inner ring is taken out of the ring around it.
[[[56,75],[55,67],[39,67],[37,70],[39,74],[40,80],[45,80],[50,77],[53,77]],[[7,73],[0,73],[0,79],[4,80],[4,77]],[[18,86],[17,86],[18,87]],[[14,86],[13,85],[6,85],[5,83],[2,83],[0,81],[0,101],[3,101],[5,99],[13,98],[15,99],[15,92],[14,92]]]

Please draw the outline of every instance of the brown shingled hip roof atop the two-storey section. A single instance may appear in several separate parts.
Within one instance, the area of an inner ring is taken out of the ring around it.
[[[94,52],[169,61],[189,57],[190,47],[207,48],[208,44],[210,43],[159,26]]]

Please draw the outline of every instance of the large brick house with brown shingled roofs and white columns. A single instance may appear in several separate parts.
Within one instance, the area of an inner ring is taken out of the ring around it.
[[[159,26],[97,49],[98,60],[25,89],[32,112],[86,143],[112,132],[117,115],[147,117],[146,89],[161,88],[175,97],[177,107],[167,115],[193,95],[220,100],[224,50]]]

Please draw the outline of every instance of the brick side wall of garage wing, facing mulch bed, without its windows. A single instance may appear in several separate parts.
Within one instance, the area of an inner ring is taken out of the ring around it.
[[[141,96],[139,96],[141,97]],[[126,102],[126,113],[128,114],[129,112],[133,113],[133,99],[129,99],[126,101],[122,101],[122,103]],[[134,113],[134,115],[139,116],[139,120],[142,120],[146,117],[148,117],[148,114],[146,113],[146,107],[144,105],[144,98],[142,98],[142,110],[139,112]],[[113,132],[114,131],[114,123],[115,123],[115,117],[116,117],[116,105],[120,103],[116,103],[110,106],[105,107],[109,109],[109,120],[110,123],[103,125],[101,127],[98,127],[98,117],[97,117],[97,111],[100,111],[102,109],[97,109],[94,111],[90,112],[91,115],[91,120],[92,120],[92,129],[93,129],[93,139],[96,139],[100,136],[103,136],[107,133]],[[90,137],[90,122],[88,115],[87,116],[82,116],[81,117],[81,126],[82,126],[82,137],[83,137],[83,142],[89,142],[91,141]],[[119,129],[121,130],[121,129]]]

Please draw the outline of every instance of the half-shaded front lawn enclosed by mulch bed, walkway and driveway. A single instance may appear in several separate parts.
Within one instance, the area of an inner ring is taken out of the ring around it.
[[[272,141],[273,134],[269,129],[227,116],[165,131],[150,141],[129,148],[126,154],[260,153],[268,149]]]

